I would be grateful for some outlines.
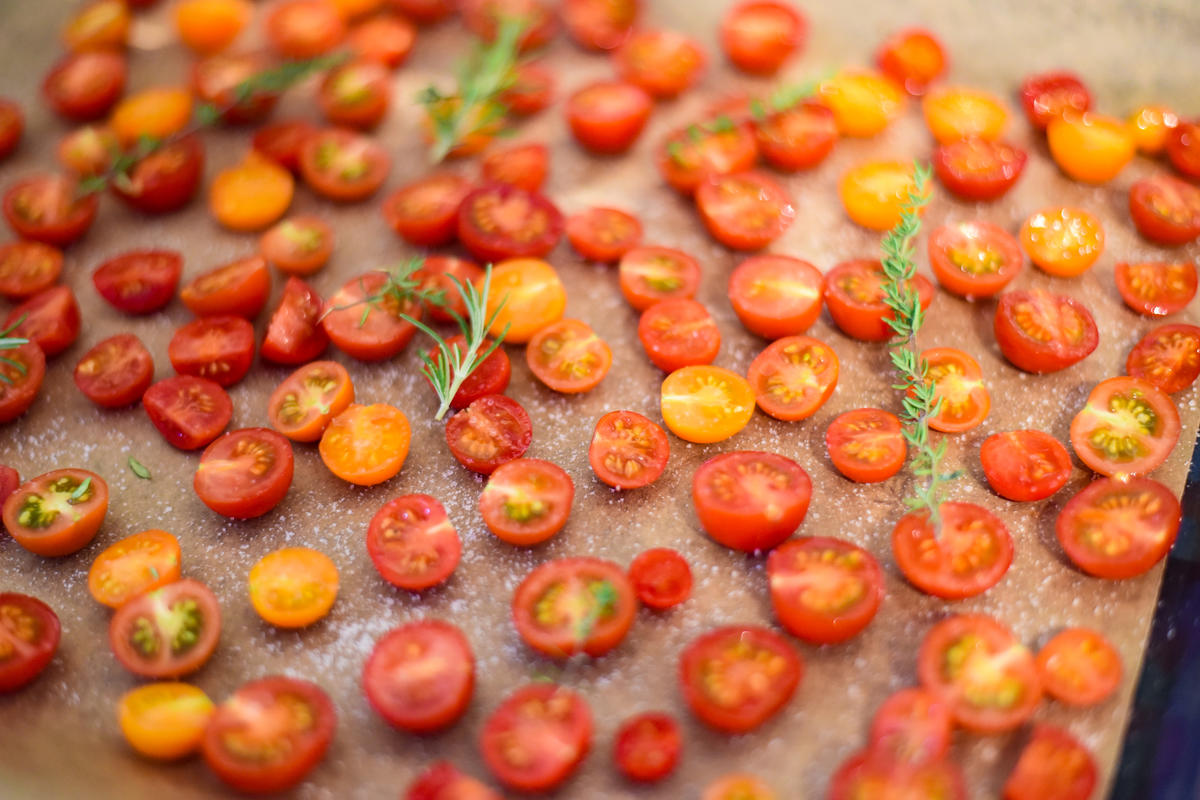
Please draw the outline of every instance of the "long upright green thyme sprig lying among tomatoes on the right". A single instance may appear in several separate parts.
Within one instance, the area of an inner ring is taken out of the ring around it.
[[[913,452],[908,468],[922,479],[914,495],[905,498],[905,505],[912,511],[926,511],[934,530],[941,527],[941,505],[943,485],[953,481],[959,473],[943,473],[942,459],[946,457],[946,440],[934,444],[929,438],[929,420],[941,410],[941,398],[936,397],[935,386],[926,380],[929,363],[920,357],[917,347],[917,333],[925,321],[925,312],[920,307],[920,296],[913,288],[917,276],[917,263],[913,239],[920,230],[920,209],[929,203],[928,164],[917,163],[912,172],[912,188],[900,213],[900,222],[887,233],[881,245],[883,249],[883,302],[892,309],[887,318],[888,325],[895,331],[890,343],[892,366],[899,375],[899,383],[893,389],[904,392],[902,413],[904,438]]]

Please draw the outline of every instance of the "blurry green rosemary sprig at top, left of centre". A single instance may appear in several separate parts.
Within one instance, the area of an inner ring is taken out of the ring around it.
[[[475,44],[458,66],[457,88],[443,95],[426,86],[416,97],[425,107],[433,131],[433,163],[474,134],[491,133],[509,113],[503,94],[516,83],[521,37],[529,23],[522,17],[505,17],[490,43]]]

